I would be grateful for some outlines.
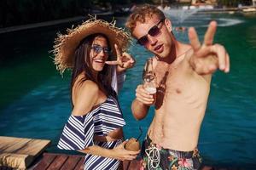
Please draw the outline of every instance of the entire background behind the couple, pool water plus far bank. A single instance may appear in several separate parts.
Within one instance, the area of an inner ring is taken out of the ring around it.
[[[212,166],[253,169],[256,165],[256,8],[253,0],[2,0],[0,3],[0,136],[50,139],[56,148],[71,113],[70,75],[55,71],[53,55],[57,32],[77,26],[88,14],[117,20],[124,27],[131,11],[142,3],[157,5],[172,20],[177,40],[188,42],[187,29],[195,26],[202,40],[210,20],[217,20],[215,42],[223,44],[231,59],[229,74],[212,78],[207,113],[201,127],[199,149]],[[131,116],[131,101],[142,82],[145,60],[152,56],[134,42],[129,48],[137,65],[126,72],[119,94],[124,112],[125,138],[143,138],[154,116],[143,121]]]

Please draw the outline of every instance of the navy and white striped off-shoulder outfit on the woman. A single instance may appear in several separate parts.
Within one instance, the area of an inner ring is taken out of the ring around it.
[[[84,116],[70,116],[61,134],[58,148],[61,150],[84,150],[94,144],[106,149],[113,149],[122,143],[122,139],[111,142],[94,141],[94,135],[107,136],[109,132],[125,125],[118,101],[108,99]],[[119,160],[108,157],[85,155],[84,169],[109,170],[118,169]]]

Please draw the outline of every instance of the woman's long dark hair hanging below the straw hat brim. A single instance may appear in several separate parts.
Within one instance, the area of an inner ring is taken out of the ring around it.
[[[96,82],[98,87],[102,90],[104,94],[114,95],[113,88],[111,87],[112,82],[112,69],[110,65],[104,65],[102,71],[98,72],[97,77],[93,77],[93,71],[90,63],[90,49],[92,42],[96,37],[105,37],[108,42],[108,47],[110,48],[110,43],[108,37],[104,34],[92,34],[88,37],[85,37],[80,43],[78,48],[75,50],[74,54],[74,65],[73,65],[73,73],[71,79],[71,100],[72,99],[72,89],[74,82],[78,78],[78,76],[84,72],[84,77],[79,81],[79,83],[84,82],[85,80],[90,80],[92,82]],[[111,56],[108,56],[108,59]]]

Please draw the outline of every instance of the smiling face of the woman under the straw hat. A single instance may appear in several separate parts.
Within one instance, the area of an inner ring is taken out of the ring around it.
[[[108,41],[105,37],[94,38],[90,48],[90,65],[94,71],[102,71],[105,61],[108,60]]]

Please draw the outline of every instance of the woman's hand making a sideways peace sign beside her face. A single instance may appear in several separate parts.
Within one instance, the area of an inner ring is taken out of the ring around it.
[[[114,48],[116,51],[116,58],[117,60],[114,61],[106,61],[107,65],[117,65],[117,71],[125,71],[126,69],[130,69],[135,64],[135,59],[131,57],[130,54],[124,52],[123,54],[120,53],[120,50],[117,44],[114,44]]]

